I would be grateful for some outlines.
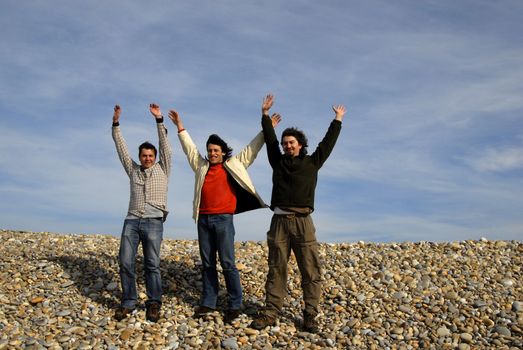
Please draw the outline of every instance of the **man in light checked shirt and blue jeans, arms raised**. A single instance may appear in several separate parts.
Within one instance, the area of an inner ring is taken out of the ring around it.
[[[167,139],[160,107],[149,106],[156,120],[159,138],[159,161],[156,147],[144,142],[139,147],[140,164],[132,160],[127,144],[120,131],[120,106],[114,107],[112,136],[118,157],[130,180],[130,200],[120,239],[120,280],[122,284],[121,305],[114,317],[120,321],[136,307],[136,253],[142,242],[147,291],[146,318],[156,322],[160,318],[162,280],[160,275],[160,245],[163,222],[167,216],[167,185],[171,172],[172,150]]]

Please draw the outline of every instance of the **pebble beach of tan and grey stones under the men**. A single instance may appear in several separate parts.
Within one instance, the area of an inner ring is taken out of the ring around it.
[[[288,297],[275,326],[249,328],[263,306],[265,242],[237,242],[242,315],[193,319],[200,295],[196,240],[162,243],[161,319],[140,307],[117,322],[119,238],[0,230],[2,349],[522,349],[523,243],[321,243],[320,332],[301,328],[300,274],[289,262]],[[221,276],[220,276],[221,277]]]

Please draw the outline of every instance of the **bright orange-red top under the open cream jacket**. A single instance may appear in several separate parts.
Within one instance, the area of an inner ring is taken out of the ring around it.
[[[236,193],[223,164],[209,167],[203,182],[200,214],[234,214]]]

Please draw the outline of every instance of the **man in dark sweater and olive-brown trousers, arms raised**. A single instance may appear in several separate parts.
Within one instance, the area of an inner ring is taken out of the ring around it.
[[[300,269],[303,289],[303,327],[318,332],[316,316],[321,295],[321,268],[316,229],[310,214],[314,211],[314,192],[318,171],[329,157],[341,131],[345,114],[342,105],[333,106],[336,114],[327,134],[316,150],[307,155],[307,138],[296,128],[282,133],[281,146],[271,125],[269,109],[274,101],[267,95],[262,105],[262,128],[272,173],[271,210],[274,215],[267,233],[269,272],[265,285],[265,309],[251,323],[263,329],[276,323],[287,288],[287,263],[291,249]]]

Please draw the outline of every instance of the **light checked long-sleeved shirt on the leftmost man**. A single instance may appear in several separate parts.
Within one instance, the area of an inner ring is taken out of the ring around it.
[[[131,198],[128,214],[141,217],[145,212],[145,204],[148,203],[160,209],[165,219],[168,213],[167,185],[171,173],[172,150],[163,119],[157,121],[156,125],[160,140],[159,161],[149,169],[142,169],[140,164],[131,159],[119,125],[113,125],[112,133],[118,157],[130,180]]]

